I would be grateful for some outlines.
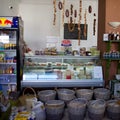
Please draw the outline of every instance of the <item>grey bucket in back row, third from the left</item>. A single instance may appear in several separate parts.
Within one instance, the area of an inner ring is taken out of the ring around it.
[[[85,98],[87,100],[91,100],[93,97],[93,90],[91,89],[79,89],[76,90],[77,98]]]

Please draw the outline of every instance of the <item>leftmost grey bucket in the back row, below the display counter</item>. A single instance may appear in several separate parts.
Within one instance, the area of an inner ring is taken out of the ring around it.
[[[38,98],[42,102],[47,102],[48,100],[54,100],[56,98],[56,91],[55,90],[39,91]]]

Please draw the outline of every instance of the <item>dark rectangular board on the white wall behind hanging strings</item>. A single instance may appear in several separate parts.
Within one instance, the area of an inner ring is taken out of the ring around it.
[[[86,28],[86,29],[85,29]],[[87,40],[87,28],[88,25],[86,24],[80,24],[80,39],[81,40]],[[72,39],[72,40],[78,40],[78,24],[74,25],[74,29],[72,31],[69,30],[68,23],[64,24],[64,39]]]

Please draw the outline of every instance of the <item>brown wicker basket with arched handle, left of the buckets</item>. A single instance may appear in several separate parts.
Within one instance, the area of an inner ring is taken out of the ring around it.
[[[30,89],[33,92],[33,94],[25,94],[26,90],[28,90],[28,89]],[[19,101],[20,101],[21,105],[26,105],[26,99],[32,99],[32,98],[37,99],[36,92],[32,87],[27,87],[23,90],[23,94],[22,94],[22,96],[19,97]]]

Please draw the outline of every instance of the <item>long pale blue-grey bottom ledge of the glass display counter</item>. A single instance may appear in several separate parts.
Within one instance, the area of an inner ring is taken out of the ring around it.
[[[103,80],[82,79],[82,80],[25,80],[21,81],[22,87],[102,87]]]

